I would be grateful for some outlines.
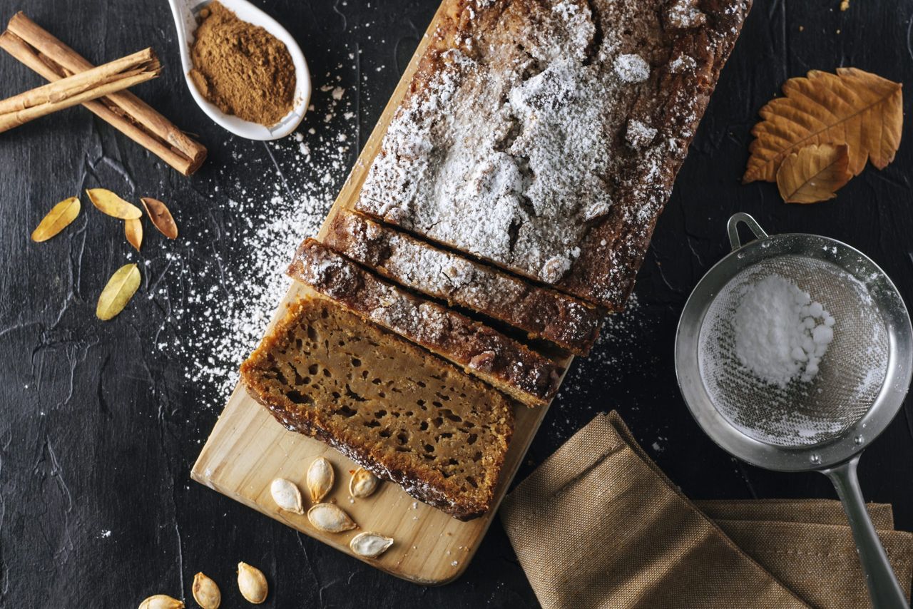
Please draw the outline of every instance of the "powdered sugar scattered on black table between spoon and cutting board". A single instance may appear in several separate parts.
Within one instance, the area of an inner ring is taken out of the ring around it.
[[[307,132],[262,144],[231,140],[220,151],[231,162],[215,184],[199,189],[212,200],[208,219],[198,223],[206,228],[179,237],[183,247],[166,255],[167,268],[150,288],[168,311],[156,348],[183,363],[187,381],[202,385],[205,405],[225,403],[238,366],[289,289],[285,269],[295,248],[317,234],[351,163],[352,100],[340,77],[327,79],[314,90],[309,111],[320,120],[306,120]],[[227,176],[238,165],[247,177],[231,184]]]

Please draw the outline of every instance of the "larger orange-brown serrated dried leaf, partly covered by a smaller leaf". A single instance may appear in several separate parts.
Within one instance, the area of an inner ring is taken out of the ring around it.
[[[783,94],[761,109],[764,120],[751,130],[744,184],[775,181],[783,159],[812,144],[847,144],[853,175],[868,159],[878,169],[894,160],[903,125],[900,83],[856,68],[812,70],[787,80]]]

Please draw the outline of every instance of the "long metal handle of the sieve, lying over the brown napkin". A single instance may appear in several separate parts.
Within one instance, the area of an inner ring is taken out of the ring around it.
[[[859,562],[862,563],[862,571],[866,573],[872,605],[875,609],[908,609],[907,598],[897,583],[885,549],[868,516],[866,500],[863,499],[859,477],[856,475],[858,463],[859,455],[856,455],[845,463],[821,470],[821,473],[831,478],[837,495],[844,504],[846,519],[850,521],[856,551],[859,552]]]

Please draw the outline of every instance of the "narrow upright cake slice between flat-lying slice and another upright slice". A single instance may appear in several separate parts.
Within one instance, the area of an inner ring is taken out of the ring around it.
[[[563,370],[557,362],[479,321],[378,278],[314,239],[301,244],[289,275],[523,404],[548,404],[558,391]]]

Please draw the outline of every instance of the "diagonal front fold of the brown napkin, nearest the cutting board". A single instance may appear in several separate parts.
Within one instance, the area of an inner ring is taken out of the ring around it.
[[[504,499],[540,604],[804,607],[597,415]]]

